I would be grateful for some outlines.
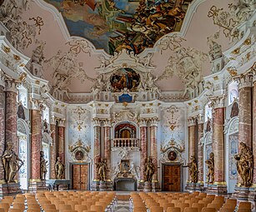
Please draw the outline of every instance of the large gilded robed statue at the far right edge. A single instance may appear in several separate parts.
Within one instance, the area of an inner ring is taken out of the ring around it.
[[[253,184],[253,153],[243,142],[239,144],[239,147],[240,152],[238,155],[234,155],[234,159],[238,161],[238,174],[242,178],[240,184],[249,187]]]

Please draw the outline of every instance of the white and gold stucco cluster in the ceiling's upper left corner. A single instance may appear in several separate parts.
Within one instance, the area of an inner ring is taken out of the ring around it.
[[[0,6],[0,21],[10,31],[13,47],[25,49],[37,40],[43,27],[42,17],[30,17],[28,21],[22,20],[21,13],[29,7],[29,1],[6,0]],[[33,23],[31,23],[33,22]]]

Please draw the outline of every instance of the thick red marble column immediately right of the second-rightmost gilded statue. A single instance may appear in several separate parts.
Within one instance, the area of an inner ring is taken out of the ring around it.
[[[224,182],[224,108],[213,112],[214,182]]]

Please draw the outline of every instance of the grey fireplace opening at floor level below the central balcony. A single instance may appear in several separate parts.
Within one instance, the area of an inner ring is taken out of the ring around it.
[[[137,190],[137,182],[133,178],[115,178],[114,189],[123,191],[134,191]]]

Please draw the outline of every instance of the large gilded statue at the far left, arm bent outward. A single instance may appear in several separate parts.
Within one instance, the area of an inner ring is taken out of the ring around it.
[[[5,171],[5,180],[8,183],[14,183],[14,177],[17,174],[18,170],[24,164],[23,160],[18,158],[18,155],[13,151],[13,144],[12,142],[8,142],[6,146],[6,150],[3,152],[3,168]],[[21,162],[21,164],[18,163]]]

